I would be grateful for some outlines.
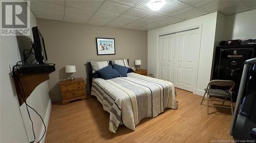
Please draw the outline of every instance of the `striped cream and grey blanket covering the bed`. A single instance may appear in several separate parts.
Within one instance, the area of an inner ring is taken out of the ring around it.
[[[94,78],[91,94],[110,113],[113,133],[120,124],[135,130],[142,119],[156,117],[165,108],[177,109],[173,83],[136,73],[109,80]]]

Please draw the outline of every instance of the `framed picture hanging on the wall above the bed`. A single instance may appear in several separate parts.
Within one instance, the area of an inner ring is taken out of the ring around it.
[[[97,55],[116,54],[114,38],[96,38]]]

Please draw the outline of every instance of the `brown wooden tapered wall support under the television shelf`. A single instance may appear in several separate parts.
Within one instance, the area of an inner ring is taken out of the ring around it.
[[[19,106],[24,103],[24,96],[26,100],[37,85],[50,79],[49,74],[50,73],[13,75]],[[23,95],[23,90],[25,95]]]

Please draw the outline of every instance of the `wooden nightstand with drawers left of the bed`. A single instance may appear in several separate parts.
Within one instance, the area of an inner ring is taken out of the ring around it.
[[[78,99],[86,99],[86,88],[83,78],[59,81],[59,85],[62,96],[62,104],[68,104],[70,101]]]

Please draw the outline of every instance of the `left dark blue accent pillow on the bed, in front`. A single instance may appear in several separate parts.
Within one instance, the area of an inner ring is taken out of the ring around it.
[[[116,70],[112,68],[111,65],[99,69],[96,72],[100,74],[103,79],[112,79],[121,76]]]

